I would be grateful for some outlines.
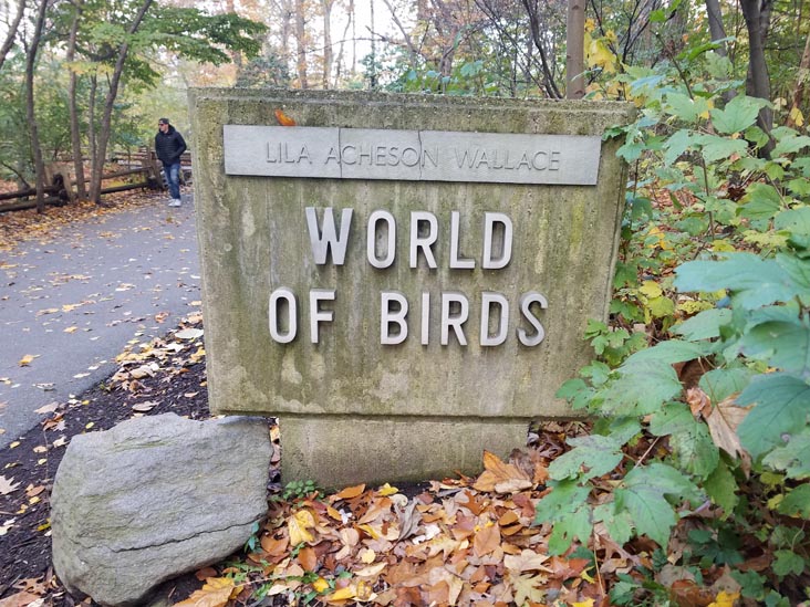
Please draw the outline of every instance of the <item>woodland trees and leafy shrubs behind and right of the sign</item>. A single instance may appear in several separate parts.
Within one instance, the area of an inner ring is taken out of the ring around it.
[[[0,4],[0,177],[41,195],[75,161],[101,201],[105,161],[158,116],[189,135],[191,85],[634,103],[605,134],[631,167],[611,318],[559,393],[594,421],[547,462],[534,524],[596,575],[650,553],[600,577],[616,604],[672,600],[666,566],[734,580],[717,605],[810,597],[804,0],[191,4]]]

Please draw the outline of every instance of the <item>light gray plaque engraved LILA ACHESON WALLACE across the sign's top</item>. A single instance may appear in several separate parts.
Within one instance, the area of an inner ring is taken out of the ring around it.
[[[225,172],[267,177],[596,184],[598,136],[225,125]]]

